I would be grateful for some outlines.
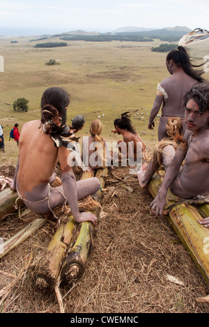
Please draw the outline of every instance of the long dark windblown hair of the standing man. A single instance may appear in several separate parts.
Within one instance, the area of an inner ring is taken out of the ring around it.
[[[189,52],[182,47],[179,46],[177,50],[172,50],[169,52],[167,55],[167,61],[173,59],[175,62],[176,66],[179,68],[182,67],[185,73],[198,82],[203,82],[204,78],[201,77],[201,75],[204,73],[203,70],[195,70],[193,67],[200,67],[203,66],[203,64],[196,66],[192,65],[192,60],[190,59]]]

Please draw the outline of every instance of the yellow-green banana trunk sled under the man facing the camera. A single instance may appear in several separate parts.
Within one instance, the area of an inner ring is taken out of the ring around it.
[[[160,171],[160,174],[162,172]],[[155,174],[148,184],[148,191],[155,198],[162,184],[162,177]],[[189,203],[190,202],[190,203]],[[209,205],[192,205],[192,201],[180,201],[169,190],[164,214],[187,248],[192,259],[209,285],[209,228],[198,223],[209,216]],[[195,203],[195,202],[194,202]]]

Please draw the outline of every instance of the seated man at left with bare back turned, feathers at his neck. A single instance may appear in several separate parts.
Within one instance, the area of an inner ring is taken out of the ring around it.
[[[70,96],[59,87],[51,87],[42,95],[41,119],[27,122],[20,136],[20,155],[15,171],[15,180],[10,183],[17,189],[25,205],[33,212],[51,215],[53,209],[67,202],[75,221],[91,221],[97,217],[91,212],[79,212],[78,201],[100,189],[98,178],[79,180],[68,164],[70,151],[69,127],[66,125],[66,110]],[[33,136],[33,137],[31,137]],[[60,187],[50,188],[56,163],[61,166]]]

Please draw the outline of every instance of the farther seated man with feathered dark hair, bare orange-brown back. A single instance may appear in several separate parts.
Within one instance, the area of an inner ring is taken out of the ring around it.
[[[118,133],[123,136],[123,141],[118,141],[118,147],[121,148],[121,156],[118,159],[128,158],[128,143],[133,143],[134,158],[137,157],[138,152],[144,152],[146,150],[146,145],[132,126],[128,112],[122,114],[121,118],[115,119],[114,126],[115,129],[112,133]],[[139,143],[141,146],[137,147]]]

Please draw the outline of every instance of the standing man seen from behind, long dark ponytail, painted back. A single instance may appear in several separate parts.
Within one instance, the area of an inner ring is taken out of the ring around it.
[[[194,65],[189,58],[189,52],[178,46],[167,55],[167,70],[169,78],[162,80],[157,86],[157,96],[150,112],[148,129],[154,129],[154,119],[162,106],[162,117],[158,128],[158,140],[171,136],[172,133],[185,133],[185,108],[183,98],[191,87],[203,82],[203,71],[194,70]]]

